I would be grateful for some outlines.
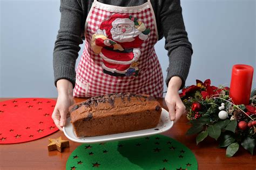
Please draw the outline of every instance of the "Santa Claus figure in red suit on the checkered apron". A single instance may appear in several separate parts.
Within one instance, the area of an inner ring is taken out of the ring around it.
[[[138,76],[139,47],[150,29],[129,15],[116,13],[103,21],[92,35],[91,46],[102,58],[103,72],[111,76]]]

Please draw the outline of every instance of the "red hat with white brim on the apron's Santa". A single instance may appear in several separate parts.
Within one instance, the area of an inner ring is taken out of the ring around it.
[[[134,25],[134,22],[129,19],[129,15],[122,15],[120,13],[116,13],[114,15],[112,15],[109,19],[107,19],[106,21],[102,22],[102,24],[100,24],[99,29],[100,30],[106,30],[106,35],[110,36],[111,32],[110,30],[112,29],[113,25],[116,24],[124,24],[124,23],[130,23]]]

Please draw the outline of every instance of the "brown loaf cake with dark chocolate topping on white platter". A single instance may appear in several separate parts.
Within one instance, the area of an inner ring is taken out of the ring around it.
[[[92,97],[70,108],[77,137],[145,130],[158,125],[161,107],[151,96],[113,93]]]

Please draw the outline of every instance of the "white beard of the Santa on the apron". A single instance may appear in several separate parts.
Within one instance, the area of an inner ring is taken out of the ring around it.
[[[133,28],[131,32],[116,32],[114,28],[110,30],[112,38],[116,42],[124,43],[124,42],[132,42],[134,40],[133,37],[136,37],[141,33],[139,30]]]

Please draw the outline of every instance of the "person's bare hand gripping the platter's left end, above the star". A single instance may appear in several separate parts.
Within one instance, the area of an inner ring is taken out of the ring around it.
[[[69,80],[60,79],[57,81],[58,99],[52,113],[52,119],[60,131],[66,124],[66,115],[69,113],[69,106],[73,101],[73,86]]]

